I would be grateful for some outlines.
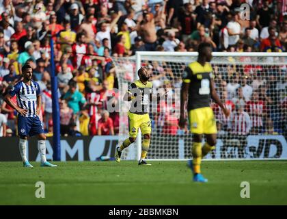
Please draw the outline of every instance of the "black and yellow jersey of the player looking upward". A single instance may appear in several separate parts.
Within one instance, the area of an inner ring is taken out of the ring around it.
[[[137,80],[131,83],[128,92],[131,96],[137,96],[139,92],[143,96],[141,100],[132,99],[130,112],[133,114],[147,114],[148,107],[150,106],[151,94],[152,94],[152,83],[147,81],[146,85],[143,84],[140,80]],[[138,106],[138,104],[140,104]]]

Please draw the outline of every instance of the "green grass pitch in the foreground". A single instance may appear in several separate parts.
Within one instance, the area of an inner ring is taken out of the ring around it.
[[[55,162],[23,168],[0,162],[1,205],[286,205],[287,161],[202,162],[208,183],[193,183],[187,162]],[[36,198],[37,181],[45,198]],[[241,198],[242,181],[250,198]]]

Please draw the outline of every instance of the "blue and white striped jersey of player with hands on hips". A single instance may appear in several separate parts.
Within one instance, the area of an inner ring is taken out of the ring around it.
[[[16,95],[18,107],[28,110],[27,117],[35,117],[37,116],[37,96],[40,92],[37,82],[31,81],[31,86],[28,86],[23,81],[19,81],[10,91],[10,95]]]

